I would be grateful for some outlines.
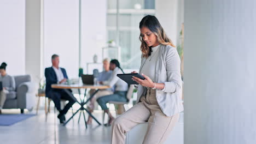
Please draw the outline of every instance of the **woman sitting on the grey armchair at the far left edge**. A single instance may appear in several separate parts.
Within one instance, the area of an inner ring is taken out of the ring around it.
[[[0,82],[2,82],[2,87],[0,87],[0,113],[2,113],[2,109],[4,106],[4,102],[6,99],[6,95],[10,92],[10,91],[14,91],[15,90],[15,81],[13,76],[10,76],[6,73],[6,67],[7,64],[6,63],[2,63],[0,65]]]

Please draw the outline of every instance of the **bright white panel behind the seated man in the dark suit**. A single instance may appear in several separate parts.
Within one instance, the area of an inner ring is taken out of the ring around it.
[[[69,78],[78,77],[78,4],[44,0],[44,68],[51,67],[51,56],[57,54]]]

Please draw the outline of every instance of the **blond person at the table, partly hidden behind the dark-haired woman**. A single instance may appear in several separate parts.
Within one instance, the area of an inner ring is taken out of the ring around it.
[[[103,59],[103,68],[104,70],[99,73],[98,77],[97,77],[97,81],[98,82],[102,82],[102,81],[107,81],[110,79],[111,75],[112,75],[112,70],[109,69],[109,65],[110,65],[110,59],[109,58],[105,58]],[[90,100],[90,103],[87,105],[88,109],[90,112],[93,112],[95,109],[95,101],[97,98],[100,98],[104,95],[110,95],[113,94],[114,88],[108,88],[108,89],[102,89],[100,91],[98,91],[94,97]],[[95,92],[94,90],[91,90],[90,93],[92,94],[93,92]],[[89,116],[88,117],[88,121],[87,124],[91,124],[92,122],[92,117]]]

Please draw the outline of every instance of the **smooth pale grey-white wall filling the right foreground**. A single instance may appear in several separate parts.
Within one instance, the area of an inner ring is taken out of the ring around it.
[[[255,8],[255,1],[185,1],[186,144],[255,143]]]

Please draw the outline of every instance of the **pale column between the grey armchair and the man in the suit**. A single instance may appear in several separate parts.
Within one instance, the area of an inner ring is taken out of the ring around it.
[[[26,74],[39,82],[42,71],[41,1],[26,0]]]

